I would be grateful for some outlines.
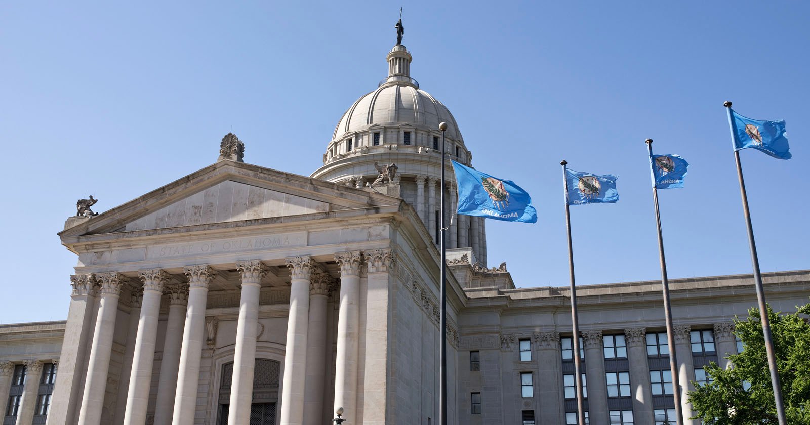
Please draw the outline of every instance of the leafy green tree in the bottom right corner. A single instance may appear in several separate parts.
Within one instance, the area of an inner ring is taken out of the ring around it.
[[[794,314],[776,313],[768,307],[787,423],[791,425],[810,424],[810,325],[803,317],[808,314],[810,304]],[[774,390],[758,308],[748,310],[744,321],[735,317],[734,334],[743,341],[744,350],[728,357],[733,368],[723,370],[714,362],[706,367],[710,383],[689,393],[697,412],[693,419],[715,425],[775,425]]]

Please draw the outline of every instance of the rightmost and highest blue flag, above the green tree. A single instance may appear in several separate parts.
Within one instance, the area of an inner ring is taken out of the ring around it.
[[[747,147],[763,151],[778,159],[791,159],[790,146],[787,145],[785,121],[759,121],[743,117],[731,111],[731,135],[734,137],[734,150]]]

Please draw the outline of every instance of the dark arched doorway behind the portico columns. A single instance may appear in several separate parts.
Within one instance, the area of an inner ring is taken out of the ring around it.
[[[279,402],[279,370],[275,360],[256,359],[254,363],[253,403],[250,405],[250,425],[275,425],[275,411]],[[222,365],[218,425],[228,425],[228,407],[231,402],[233,362]]]

